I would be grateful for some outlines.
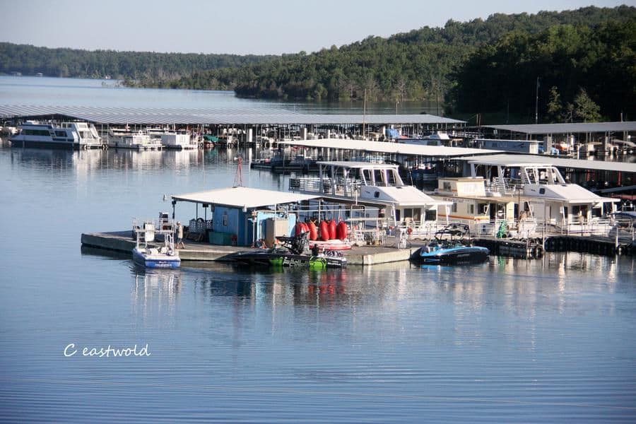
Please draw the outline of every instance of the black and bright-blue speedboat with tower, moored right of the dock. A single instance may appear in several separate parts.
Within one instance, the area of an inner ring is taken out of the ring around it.
[[[468,229],[468,225],[464,224],[448,225],[437,232],[435,240],[413,252],[409,260],[418,265],[463,265],[487,261],[490,251],[486,247],[453,240],[454,236],[465,235]],[[444,235],[450,235],[451,239],[443,240]]]

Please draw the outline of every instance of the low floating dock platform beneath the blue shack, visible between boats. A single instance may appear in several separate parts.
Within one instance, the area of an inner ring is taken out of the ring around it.
[[[136,242],[131,231],[88,232],[81,236],[82,246],[106,249],[114,252],[132,254]],[[237,252],[253,250],[250,247],[210,245],[206,242],[184,240],[185,249],[179,249],[182,261],[226,261],[230,255]],[[351,250],[343,251],[348,265],[387,264],[389,262],[408,261],[411,249],[396,249],[394,247],[355,246]]]

